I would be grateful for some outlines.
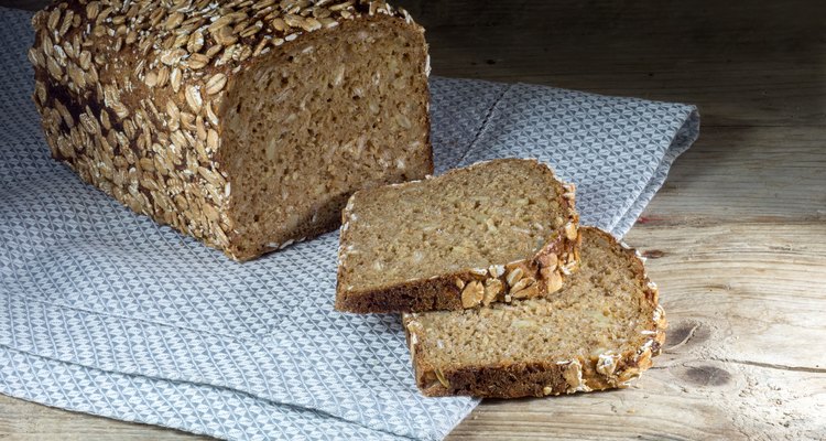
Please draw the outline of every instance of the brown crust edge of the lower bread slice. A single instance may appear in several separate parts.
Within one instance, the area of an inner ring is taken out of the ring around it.
[[[608,233],[594,227],[583,227],[586,233],[605,236],[611,241],[616,239]],[[573,394],[576,391],[604,390],[624,387],[628,381],[651,367],[651,358],[660,354],[665,342],[667,322],[659,305],[659,293],[645,275],[642,260],[633,249],[617,245],[624,252],[633,266],[637,282],[644,290],[644,300],[655,311],[652,327],[648,331],[651,336],[637,351],[619,354],[616,368],[600,373],[597,365],[599,359],[577,358],[567,364],[556,361],[535,361],[532,363],[499,364],[485,366],[455,366],[444,372],[436,372],[430,366],[420,351],[419,342],[414,341],[411,332],[412,315],[403,316],[403,324],[407,344],[411,348],[416,384],[422,394],[428,397],[474,396],[481,398],[519,398],[543,397],[547,395]],[[580,376],[573,375],[577,370]],[[570,370],[568,370],[570,369]],[[606,373],[608,375],[606,375]],[[567,374],[567,375],[566,375]],[[442,378],[439,378],[439,376]],[[573,381],[582,378],[582,381]],[[575,384],[577,383],[577,384]]]

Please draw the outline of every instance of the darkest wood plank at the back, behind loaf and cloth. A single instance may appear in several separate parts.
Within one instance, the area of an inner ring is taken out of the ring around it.
[[[697,104],[710,126],[826,123],[826,3],[402,1],[433,72]]]

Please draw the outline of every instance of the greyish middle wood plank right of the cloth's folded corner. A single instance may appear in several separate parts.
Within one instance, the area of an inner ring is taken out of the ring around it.
[[[826,128],[703,128],[643,222],[826,222]]]

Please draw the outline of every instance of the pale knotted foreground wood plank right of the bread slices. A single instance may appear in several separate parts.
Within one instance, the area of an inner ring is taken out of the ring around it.
[[[622,391],[485,401],[449,440],[826,434],[826,224],[643,225],[627,239],[656,257],[670,329],[654,368]]]

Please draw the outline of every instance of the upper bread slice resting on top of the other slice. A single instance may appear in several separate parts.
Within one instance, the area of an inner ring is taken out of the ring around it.
[[[574,186],[502,159],[357,192],[343,214],[336,309],[461,310],[556,291],[576,266]]]

